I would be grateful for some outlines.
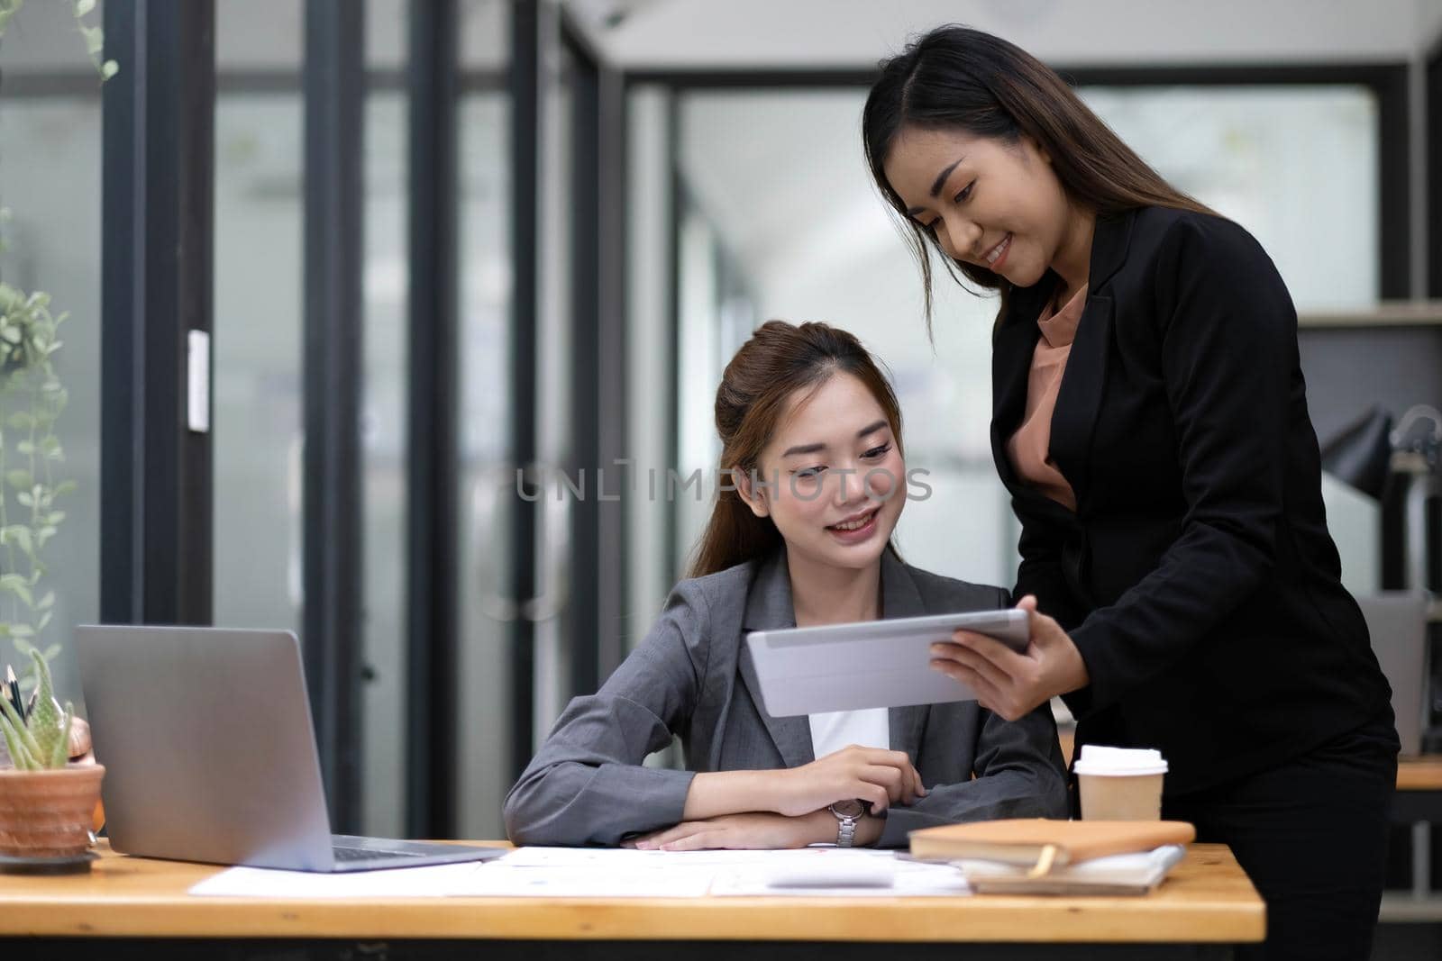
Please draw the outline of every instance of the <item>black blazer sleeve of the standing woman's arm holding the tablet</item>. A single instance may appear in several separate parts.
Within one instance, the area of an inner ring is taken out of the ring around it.
[[[1270,573],[1282,516],[1296,313],[1242,228],[1185,218],[1156,259],[1161,372],[1177,426],[1181,533],[1145,578],[1071,631],[1084,716],[1187,654]]]

